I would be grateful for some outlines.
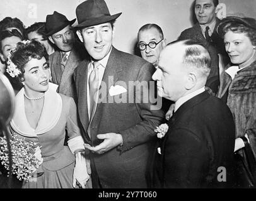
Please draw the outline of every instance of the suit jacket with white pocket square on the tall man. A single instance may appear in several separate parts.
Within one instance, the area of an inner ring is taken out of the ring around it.
[[[98,103],[91,121],[90,139],[86,132],[90,123],[86,101],[88,63],[86,60],[81,62],[74,73],[79,119],[83,125],[84,138],[92,146],[102,142],[96,139],[96,135],[100,133],[120,133],[124,140],[122,147],[113,148],[103,155],[91,153],[91,163],[95,164],[92,166],[92,180],[97,173],[103,188],[146,188],[145,172],[148,168],[149,151],[153,149],[151,141],[156,140],[154,129],[161,123],[164,113],[161,110],[153,110],[150,101],[141,103],[139,98],[141,96],[142,100],[143,97],[154,95],[155,83],[151,76],[155,69],[151,63],[140,57],[112,48],[100,88],[103,101]],[[144,89],[129,86],[131,81],[144,82]],[[152,81],[153,87],[151,85],[149,88],[149,81]],[[127,95],[125,101],[130,101],[116,102],[115,99],[120,95],[110,96],[108,91],[112,85],[125,87],[127,92],[122,95]]]

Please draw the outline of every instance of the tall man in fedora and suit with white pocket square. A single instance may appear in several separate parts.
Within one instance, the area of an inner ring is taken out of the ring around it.
[[[103,0],[84,1],[76,8],[74,28],[90,55],[76,68],[74,80],[84,146],[91,151],[93,188],[146,188],[154,129],[164,117],[141,99],[154,95],[153,65],[112,46],[113,22],[120,14],[110,15]],[[136,84],[130,87],[131,82]],[[145,84],[143,90],[139,83]],[[119,97],[125,100],[115,101]]]

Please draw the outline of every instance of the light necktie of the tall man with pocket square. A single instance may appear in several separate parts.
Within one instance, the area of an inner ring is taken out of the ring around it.
[[[93,71],[89,76],[89,89],[90,89],[90,119],[93,117],[93,112],[95,111],[97,101],[98,101],[98,87],[99,87],[99,62],[93,62]]]

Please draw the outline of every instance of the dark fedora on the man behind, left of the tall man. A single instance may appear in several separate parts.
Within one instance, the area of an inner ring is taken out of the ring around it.
[[[61,31],[67,25],[72,25],[76,19],[69,21],[66,16],[57,11],[54,11],[54,14],[48,14],[46,16],[45,28],[46,34],[45,36],[53,35],[54,33]]]

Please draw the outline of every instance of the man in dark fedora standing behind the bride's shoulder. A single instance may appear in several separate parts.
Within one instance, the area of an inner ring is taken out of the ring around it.
[[[57,11],[46,17],[45,36],[54,43],[58,50],[49,57],[52,82],[59,85],[57,92],[73,97],[76,100],[73,73],[84,58],[83,45],[75,40],[72,24],[66,16]]]

